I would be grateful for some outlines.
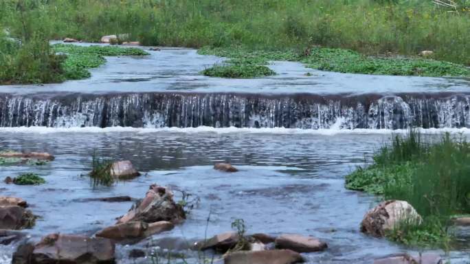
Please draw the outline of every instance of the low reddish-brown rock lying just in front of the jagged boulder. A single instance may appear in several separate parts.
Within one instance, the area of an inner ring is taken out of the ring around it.
[[[169,221],[157,221],[151,224],[144,223],[143,221],[130,221],[104,228],[96,233],[96,237],[105,237],[115,241],[143,239],[160,232],[172,230],[173,228],[175,228],[175,225]]]

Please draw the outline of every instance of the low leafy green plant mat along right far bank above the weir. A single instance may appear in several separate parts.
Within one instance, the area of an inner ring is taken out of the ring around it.
[[[203,55],[216,55],[232,58],[227,62],[242,65],[267,64],[268,60],[291,60],[306,64],[307,67],[322,71],[340,73],[366,73],[376,75],[418,75],[418,76],[470,76],[470,69],[461,64],[442,62],[424,58],[379,58],[364,56],[348,49],[312,47],[303,54],[287,51],[250,51],[244,47],[214,48],[199,50]],[[252,66],[254,67],[254,66]],[[216,68],[216,67],[214,67]],[[221,67],[219,67],[221,68]],[[226,67],[228,68],[228,67]],[[239,69],[240,67],[230,66]],[[217,71],[219,70],[219,71]],[[224,76],[228,69],[209,71],[210,76]],[[225,71],[222,71],[225,70]],[[232,70],[233,71],[233,70]],[[203,72],[205,75],[206,72]],[[219,73],[219,75],[217,75]],[[236,76],[237,77],[237,76]]]

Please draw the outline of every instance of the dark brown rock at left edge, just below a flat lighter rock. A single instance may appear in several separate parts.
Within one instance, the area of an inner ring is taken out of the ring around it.
[[[0,229],[19,230],[34,226],[36,217],[21,206],[0,207]]]

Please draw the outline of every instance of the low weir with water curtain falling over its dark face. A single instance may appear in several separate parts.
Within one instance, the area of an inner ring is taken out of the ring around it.
[[[0,127],[470,128],[470,94],[0,94]]]

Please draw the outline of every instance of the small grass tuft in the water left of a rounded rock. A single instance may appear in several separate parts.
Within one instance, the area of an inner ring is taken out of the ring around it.
[[[89,173],[93,187],[104,185],[110,187],[114,184],[115,178],[111,174],[113,160],[100,158],[95,152],[91,157],[91,172]]]

